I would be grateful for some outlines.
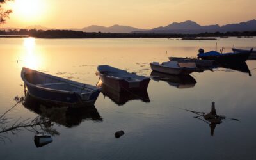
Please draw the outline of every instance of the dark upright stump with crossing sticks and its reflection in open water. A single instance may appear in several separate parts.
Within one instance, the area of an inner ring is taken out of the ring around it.
[[[222,120],[228,119],[228,120],[236,120],[239,121],[236,118],[227,118],[223,115],[217,115],[216,109],[215,109],[215,102],[212,102],[212,108],[209,113],[205,112],[199,112],[199,111],[191,111],[188,109],[184,109],[186,111],[189,111],[191,113],[195,113],[194,118],[197,118],[198,120],[202,120],[203,122],[209,124],[209,127],[211,128],[211,136],[214,136],[214,130],[216,125],[221,124]]]

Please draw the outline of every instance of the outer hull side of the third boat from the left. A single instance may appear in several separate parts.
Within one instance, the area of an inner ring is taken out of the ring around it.
[[[157,72],[162,72],[165,74],[191,74],[195,71],[195,68],[170,68],[170,67],[164,67],[160,65],[154,65],[153,63],[150,63],[150,67],[152,70]]]

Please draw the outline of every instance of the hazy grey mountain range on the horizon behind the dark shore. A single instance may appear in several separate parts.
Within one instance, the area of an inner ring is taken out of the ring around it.
[[[19,28],[1,28],[3,29],[19,29]],[[44,26],[28,26],[26,29],[38,29],[38,30],[49,30]],[[67,30],[67,29],[66,29]],[[227,24],[224,26],[219,26],[218,24],[201,26],[196,22],[187,20],[185,22],[174,22],[168,26],[161,26],[153,29],[139,29],[131,26],[120,26],[113,25],[109,27],[92,25],[82,29],[68,29],[74,31],[84,31],[84,32],[102,32],[102,33],[214,33],[214,32],[234,32],[234,31],[256,31],[256,20],[250,20],[248,22],[241,22],[237,24]]]

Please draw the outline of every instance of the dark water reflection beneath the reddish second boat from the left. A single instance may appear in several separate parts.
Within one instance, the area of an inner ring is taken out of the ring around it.
[[[99,80],[97,86],[102,87],[101,92],[103,93],[103,95],[109,97],[109,99],[115,102],[115,104],[118,104],[118,106],[122,106],[130,100],[141,100],[143,102],[150,102],[147,89],[117,92],[109,86],[105,85],[101,80]]]

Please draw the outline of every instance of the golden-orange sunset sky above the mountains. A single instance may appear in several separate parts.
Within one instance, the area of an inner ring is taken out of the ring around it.
[[[256,19],[255,0],[15,0],[3,27],[83,28],[120,24],[151,29],[193,20],[201,25]]]

